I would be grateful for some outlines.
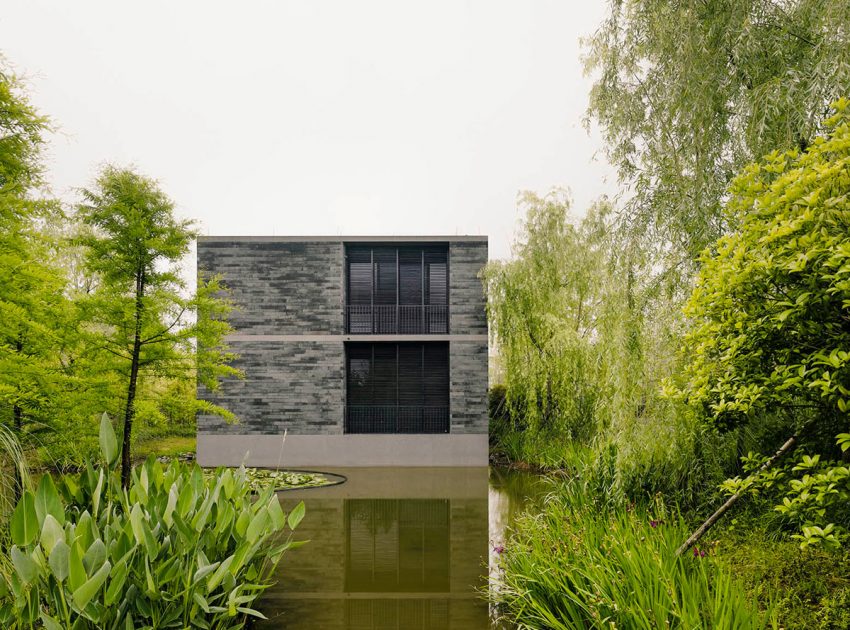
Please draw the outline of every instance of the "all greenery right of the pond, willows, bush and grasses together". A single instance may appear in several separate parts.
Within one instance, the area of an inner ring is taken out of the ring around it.
[[[493,450],[575,478],[506,545],[496,599],[522,624],[850,624],[848,21],[846,2],[635,0],[587,41],[628,194],[581,219],[523,196],[514,257],[484,273]],[[671,571],[689,607],[619,599]]]

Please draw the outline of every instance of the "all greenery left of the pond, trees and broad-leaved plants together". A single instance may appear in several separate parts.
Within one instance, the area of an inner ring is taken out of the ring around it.
[[[198,412],[232,419],[196,395],[239,376],[231,306],[217,278],[185,285],[194,226],[154,180],[106,166],[52,199],[48,130],[0,72],[0,622],[243,627],[297,544],[304,506],[287,517],[276,485],[323,480],[134,466],[152,440],[191,448]]]

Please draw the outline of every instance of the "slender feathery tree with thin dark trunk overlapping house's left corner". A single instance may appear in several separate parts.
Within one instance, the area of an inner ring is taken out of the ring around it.
[[[82,191],[79,217],[89,232],[85,266],[98,286],[85,300],[87,331],[125,378],[121,477],[130,479],[133,419],[143,372],[197,376],[209,389],[237,371],[223,344],[230,331],[229,303],[213,278],[198,280],[186,297],[179,262],[195,238],[192,222],[174,216],[173,202],[158,184],[131,169],[104,168]],[[197,354],[196,354],[197,353]],[[208,405],[208,411],[226,411]]]

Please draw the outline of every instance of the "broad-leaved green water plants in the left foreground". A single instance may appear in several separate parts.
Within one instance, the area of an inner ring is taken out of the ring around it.
[[[252,496],[244,471],[204,479],[197,465],[153,458],[121,488],[118,447],[101,422],[106,466],[44,475],[10,521],[14,572],[0,577],[0,621],[11,627],[240,628],[266,589],[288,518],[271,489]]]

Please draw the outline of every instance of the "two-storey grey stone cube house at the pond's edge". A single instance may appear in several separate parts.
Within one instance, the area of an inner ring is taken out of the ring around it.
[[[485,466],[487,238],[198,240],[245,379],[199,395],[202,465]],[[284,435],[286,435],[285,440]]]

